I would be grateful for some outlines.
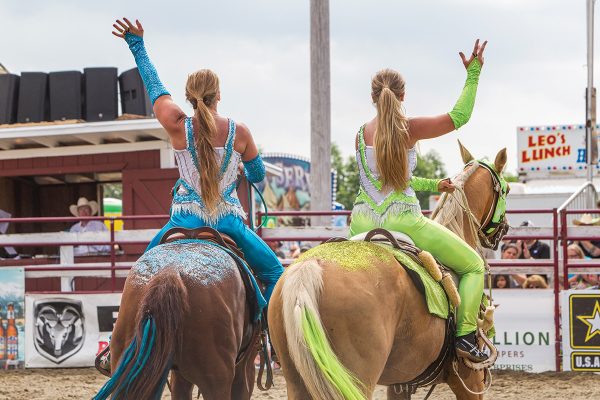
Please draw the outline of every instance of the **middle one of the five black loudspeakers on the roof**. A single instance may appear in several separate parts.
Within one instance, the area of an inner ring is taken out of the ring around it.
[[[50,72],[50,120],[81,119],[82,77],[79,71]]]

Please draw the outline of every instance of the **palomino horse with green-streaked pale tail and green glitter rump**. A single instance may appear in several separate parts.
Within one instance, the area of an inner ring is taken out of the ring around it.
[[[462,145],[461,153],[465,164],[473,161]],[[503,149],[493,169],[500,174],[505,163]],[[470,208],[477,220],[473,222],[481,225],[493,213],[497,199],[492,173],[475,163],[465,168],[457,182],[461,178],[468,201],[463,207]],[[460,224],[464,228],[459,235],[475,247],[477,231],[469,230],[477,224],[468,221],[462,208],[454,210],[453,219],[465,222]],[[342,244],[321,245],[328,249],[320,252],[321,257],[304,257],[288,267],[271,297],[271,340],[286,378],[288,398],[370,399],[380,384],[388,386],[388,399],[409,399],[410,393],[397,393],[393,385],[413,380],[437,359],[445,320],[428,312],[394,257],[365,242],[345,242],[345,249],[357,250],[339,254]],[[321,246],[314,254],[319,254]],[[340,258],[345,264],[332,261]],[[454,372],[457,365],[459,376]],[[477,393],[484,391],[484,381],[481,370],[449,360],[437,382],[450,385],[458,399],[471,400],[483,398]]]

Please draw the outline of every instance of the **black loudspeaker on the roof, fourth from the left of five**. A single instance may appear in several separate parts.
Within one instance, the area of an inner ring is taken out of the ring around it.
[[[87,121],[110,121],[117,118],[117,69],[113,67],[83,70]]]

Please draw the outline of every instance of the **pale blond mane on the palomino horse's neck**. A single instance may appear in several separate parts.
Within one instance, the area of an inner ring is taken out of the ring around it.
[[[435,222],[445,226],[463,239],[465,237],[463,209],[468,209],[468,204],[465,204],[466,196],[461,195],[461,192],[464,192],[465,183],[478,167],[479,163],[475,161],[469,168],[462,170],[452,179],[458,193],[455,192],[456,195],[444,193],[432,214]]]

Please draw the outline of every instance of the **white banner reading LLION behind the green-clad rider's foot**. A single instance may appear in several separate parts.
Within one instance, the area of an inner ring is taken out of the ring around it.
[[[552,290],[495,289],[498,348],[495,369],[553,371],[555,362],[554,293]]]

